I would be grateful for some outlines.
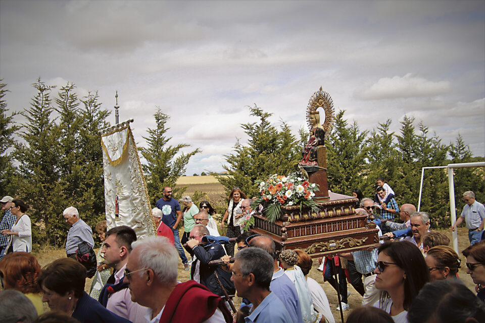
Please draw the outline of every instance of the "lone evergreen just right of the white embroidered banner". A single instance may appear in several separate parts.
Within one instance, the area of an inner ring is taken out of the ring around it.
[[[149,136],[143,137],[147,140],[147,147],[140,148],[141,155],[147,160],[147,164],[142,165],[143,172],[147,176],[147,188],[152,204],[163,195],[165,186],[172,187],[173,197],[179,198],[186,187],[175,188],[177,179],[185,173],[185,167],[193,155],[201,152],[196,148],[187,153],[180,152],[181,149],[189,147],[189,144],[180,143],[172,146],[168,142],[172,137],[166,137],[170,128],[166,127],[170,117],[164,114],[160,108],[154,114],[156,128],[148,129]],[[175,158],[175,155],[179,154]]]

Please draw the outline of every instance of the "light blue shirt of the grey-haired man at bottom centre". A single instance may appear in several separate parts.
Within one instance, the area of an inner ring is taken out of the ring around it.
[[[298,297],[298,296],[297,296]],[[284,304],[274,294],[270,293],[266,296],[258,307],[253,309],[253,312],[244,318],[246,323],[262,322],[262,323],[292,323],[296,322],[289,316]],[[301,319],[300,319],[301,320]]]

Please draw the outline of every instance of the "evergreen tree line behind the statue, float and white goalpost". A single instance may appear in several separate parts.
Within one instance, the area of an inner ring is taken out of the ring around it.
[[[230,176],[212,175],[224,185],[226,193],[240,187],[252,197],[259,194],[255,180],[298,171],[309,133],[300,129],[300,138],[296,138],[284,121],[278,129],[268,120],[272,114],[256,105],[250,107],[250,115],[258,117],[259,122],[241,125],[249,136],[248,142],[237,140],[233,151],[224,156],[224,169]],[[398,133],[390,131],[391,124],[392,120],[387,119],[372,131],[365,131],[356,121],[349,124],[345,111],[336,114],[325,142],[328,187],[332,192],[352,195],[352,190],[358,188],[373,199],[376,179],[383,177],[395,191],[399,205],[411,203],[417,207],[422,167],[485,160],[473,157],[461,135],[454,143],[446,144],[437,134],[429,134],[423,122],[416,126],[413,117],[404,117]],[[485,169],[455,169],[454,181],[457,217],[465,205],[465,191],[473,191],[476,200],[485,202]],[[420,210],[429,213],[433,228],[451,226],[447,169],[425,170]]]

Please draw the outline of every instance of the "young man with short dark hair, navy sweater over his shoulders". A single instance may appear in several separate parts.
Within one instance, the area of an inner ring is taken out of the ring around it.
[[[136,233],[128,226],[115,227],[106,233],[101,253],[104,255],[105,264],[114,271],[103,287],[99,301],[116,315],[133,323],[144,323],[147,308],[131,301],[128,285],[123,283],[133,241],[136,241]]]

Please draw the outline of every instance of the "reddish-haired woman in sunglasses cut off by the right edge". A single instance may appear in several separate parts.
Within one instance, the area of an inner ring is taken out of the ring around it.
[[[479,299],[485,300],[485,240],[476,242],[461,252],[466,257],[466,273],[470,275],[473,283],[477,284]]]

